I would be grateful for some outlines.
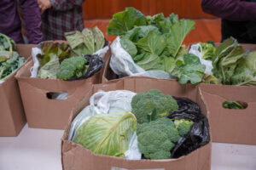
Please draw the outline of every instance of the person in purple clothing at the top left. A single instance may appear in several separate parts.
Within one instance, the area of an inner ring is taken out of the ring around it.
[[[11,37],[16,43],[24,43],[21,34],[20,14],[23,15],[29,43],[38,43],[43,40],[41,31],[41,15],[37,0],[1,0],[0,1],[0,32]]]

